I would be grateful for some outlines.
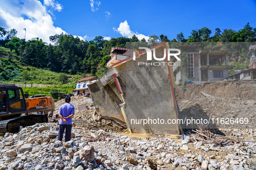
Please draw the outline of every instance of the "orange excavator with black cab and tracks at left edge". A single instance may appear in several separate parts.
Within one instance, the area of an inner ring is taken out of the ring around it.
[[[0,134],[18,132],[19,126],[48,122],[48,111],[55,109],[52,97],[28,98],[16,85],[0,85]],[[28,114],[44,112],[44,115]],[[27,115],[21,116],[23,113]]]

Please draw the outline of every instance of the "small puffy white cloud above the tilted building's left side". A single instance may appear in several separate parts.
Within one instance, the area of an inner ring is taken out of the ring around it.
[[[121,22],[118,28],[113,27],[113,30],[120,33],[123,37],[132,38],[133,35],[136,35],[136,37],[139,38],[139,40],[145,38],[146,41],[148,41],[148,39],[149,39],[149,36],[139,34],[137,31],[136,31],[136,33],[133,32],[130,29],[130,25],[128,25],[128,22],[126,20],[125,20],[125,22]]]

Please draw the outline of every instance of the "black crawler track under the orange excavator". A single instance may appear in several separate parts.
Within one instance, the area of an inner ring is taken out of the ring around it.
[[[48,117],[46,115],[26,115],[18,116],[8,120],[0,121],[0,134],[6,132],[15,133],[19,131],[19,126],[32,126],[36,123],[48,122]]]

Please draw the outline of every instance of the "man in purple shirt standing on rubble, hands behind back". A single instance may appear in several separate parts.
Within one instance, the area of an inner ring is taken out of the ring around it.
[[[75,114],[75,107],[70,104],[71,98],[69,96],[65,97],[65,104],[59,108],[58,116],[60,117],[59,128],[58,128],[58,141],[62,141],[64,130],[65,142],[71,139],[71,128],[72,128],[72,116]]]

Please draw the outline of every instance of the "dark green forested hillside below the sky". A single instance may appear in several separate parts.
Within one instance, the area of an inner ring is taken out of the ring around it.
[[[256,28],[250,27],[249,23],[242,29],[235,31],[233,29],[220,30],[215,29],[215,34],[211,37],[212,30],[207,27],[194,29],[191,35],[185,38],[183,33],[177,34],[176,38],[168,38],[166,35],[151,35],[149,43],[158,43],[161,41],[180,41],[180,42],[254,42],[256,41]],[[126,47],[126,42],[146,41],[139,40],[136,35],[132,38],[111,38],[104,40],[102,36],[97,36],[91,41],[84,41],[78,37],[68,34],[52,35],[49,37],[51,43],[47,44],[40,38],[32,38],[25,41],[16,37],[15,28],[7,31],[0,27],[0,46],[9,48],[9,56],[13,56],[18,62],[24,65],[34,66],[36,68],[46,69],[54,72],[65,72],[70,75],[85,73],[100,75],[106,69],[106,63],[110,60],[109,54],[111,47]],[[0,48],[0,53],[7,53]],[[6,59],[7,60],[7,59]],[[9,59],[10,60],[10,59]],[[246,66],[244,64],[246,56],[240,55],[234,59],[237,69]],[[1,63],[7,61],[1,60]],[[22,76],[14,67],[10,68],[16,76]],[[0,72],[5,71],[3,67]],[[17,72],[17,73],[15,73]],[[10,73],[12,74],[12,73]],[[4,76],[1,74],[1,76]],[[6,75],[5,75],[6,76]],[[18,77],[15,77],[17,79]],[[0,79],[4,80],[4,77]]]

